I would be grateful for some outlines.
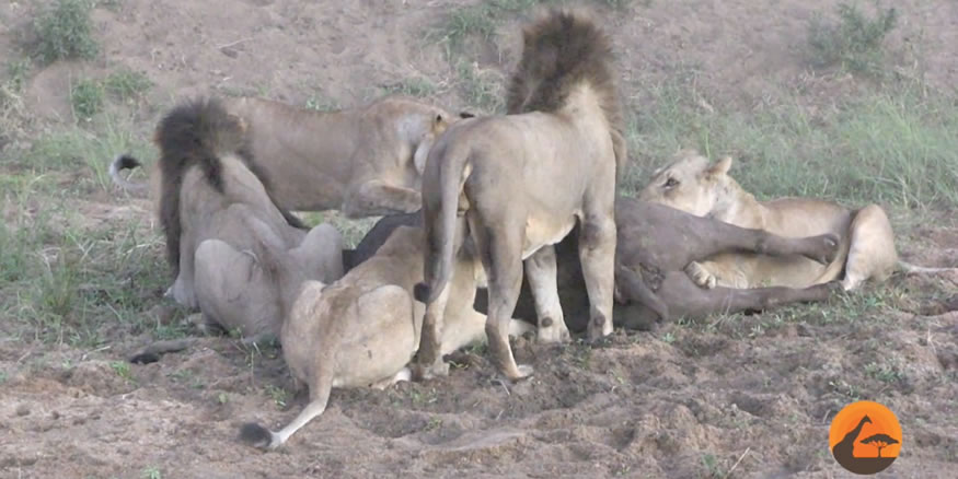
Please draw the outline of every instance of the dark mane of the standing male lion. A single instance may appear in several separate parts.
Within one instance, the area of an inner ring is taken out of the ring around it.
[[[507,113],[556,112],[576,86],[588,83],[612,129],[621,175],[626,160],[624,117],[609,37],[585,15],[553,9],[523,28],[522,42],[522,57],[507,92]]]

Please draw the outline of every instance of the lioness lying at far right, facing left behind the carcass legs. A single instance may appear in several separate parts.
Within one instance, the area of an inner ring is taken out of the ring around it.
[[[702,287],[804,288],[835,280],[844,271],[842,288],[849,291],[866,280],[885,281],[896,269],[907,272],[958,270],[924,268],[899,260],[891,223],[877,205],[851,210],[813,198],[758,201],[728,175],[731,163],[731,157],[724,157],[709,164],[695,150],[682,150],[670,164],[654,173],[639,198],[784,236],[833,233],[841,237],[841,247],[838,257],[827,265],[796,256],[716,255],[689,266],[689,273]]]

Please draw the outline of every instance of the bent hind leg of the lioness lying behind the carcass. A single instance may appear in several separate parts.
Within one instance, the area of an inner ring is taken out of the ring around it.
[[[891,222],[885,211],[877,205],[862,208],[852,220],[849,232],[849,258],[842,288],[851,291],[869,279],[879,282],[888,279],[898,265],[898,253]]]

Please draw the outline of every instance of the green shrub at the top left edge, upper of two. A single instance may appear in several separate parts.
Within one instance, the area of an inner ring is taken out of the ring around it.
[[[100,45],[92,34],[91,8],[86,0],[57,0],[36,20],[37,49],[44,62],[96,56]]]

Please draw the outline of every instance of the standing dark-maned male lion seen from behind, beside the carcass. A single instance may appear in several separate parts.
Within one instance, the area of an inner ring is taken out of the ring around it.
[[[429,305],[418,375],[446,374],[437,353],[450,296],[453,225],[469,222],[488,276],[486,334],[506,377],[519,366],[507,338],[522,262],[539,312],[539,340],[568,338],[555,284],[552,245],[578,221],[586,287],[592,300],[589,336],[612,332],[616,172],[626,160],[613,55],[604,33],[578,14],[550,11],[523,30],[522,56],[508,93],[509,114],[458,121],[437,140],[423,174],[428,247],[416,297]],[[432,308],[432,305],[438,305]]]

